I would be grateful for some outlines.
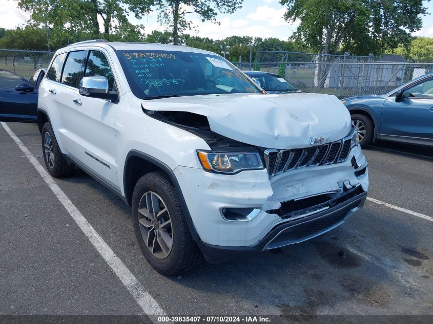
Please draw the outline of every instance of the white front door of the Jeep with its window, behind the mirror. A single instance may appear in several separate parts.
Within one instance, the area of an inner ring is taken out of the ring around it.
[[[106,76],[111,80],[111,88],[113,87],[114,77],[106,60],[101,52],[68,53],[61,80],[64,86],[58,97],[64,106],[60,116],[65,126],[64,142],[69,154],[84,164],[81,166],[87,171],[118,190],[114,131],[117,104],[84,97],[78,92],[79,80],[83,76]]]

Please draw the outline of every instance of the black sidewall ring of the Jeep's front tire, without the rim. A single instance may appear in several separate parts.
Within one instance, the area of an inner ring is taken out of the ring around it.
[[[157,195],[162,198],[164,204],[166,204],[166,207],[170,213],[170,219],[172,222],[173,246],[169,256],[163,259],[157,258],[151,253],[141,236],[140,225],[138,223],[138,206],[141,197],[147,191],[153,191],[157,193]],[[173,199],[175,199],[175,197],[172,197],[172,195],[170,195],[168,190],[164,188],[163,185],[151,177],[146,176],[137,182],[132,197],[132,219],[138,245],[141,249],[141,252],[145,255],[146,260],[152,265],[152,267],[161,273],[170,273],[179,263],[179,258],[182,254],[182,234],[184,233],[181,231],[180,217],[183,217],[183,211],[179,209],[179,207],[176,208],[175,204],[173,203]],[[179,213],[182,213],[182,215],[179,215]]]

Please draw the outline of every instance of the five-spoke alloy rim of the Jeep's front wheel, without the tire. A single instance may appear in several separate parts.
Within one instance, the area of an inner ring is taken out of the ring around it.
[[[146,192],[138,205],[141,236],[149,251],[157,258],[169,256],[173,246],[170,213],[162,198],[153,191]]]

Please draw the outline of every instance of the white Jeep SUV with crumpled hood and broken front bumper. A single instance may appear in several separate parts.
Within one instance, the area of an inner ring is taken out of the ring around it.
[[[362,207],[367,162],[346,107],[324,94],[266,94],[219,55],[85,41],[40,85],[53,177],[75,165],[132,208],[149,263],[174,275],[202,256],[299,243]]]

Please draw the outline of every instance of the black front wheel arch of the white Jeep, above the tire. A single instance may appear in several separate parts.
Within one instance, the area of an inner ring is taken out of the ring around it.
[[[164,162],[155,159],[154,157],[139,152],[137,150],[130,150],[126,157],[125,166],[123,167],[123,191],[125,192],[125,200],[127,204],[131,207],[132,205],[132,194],[134,192],[134,187],[137,181],[145,174],[161,170],[172,181],[174,187],[176,188],[177,194],[179,196],[183,212],[185,214],[185,219],[187,220],[188,227],[190,229],[191,235],[194,241],[200,241],[200,237],[192,221],[190,212],[188,210],[187,203],[183,197],[182,190],[180,188],[179,182],[173,170]]]

